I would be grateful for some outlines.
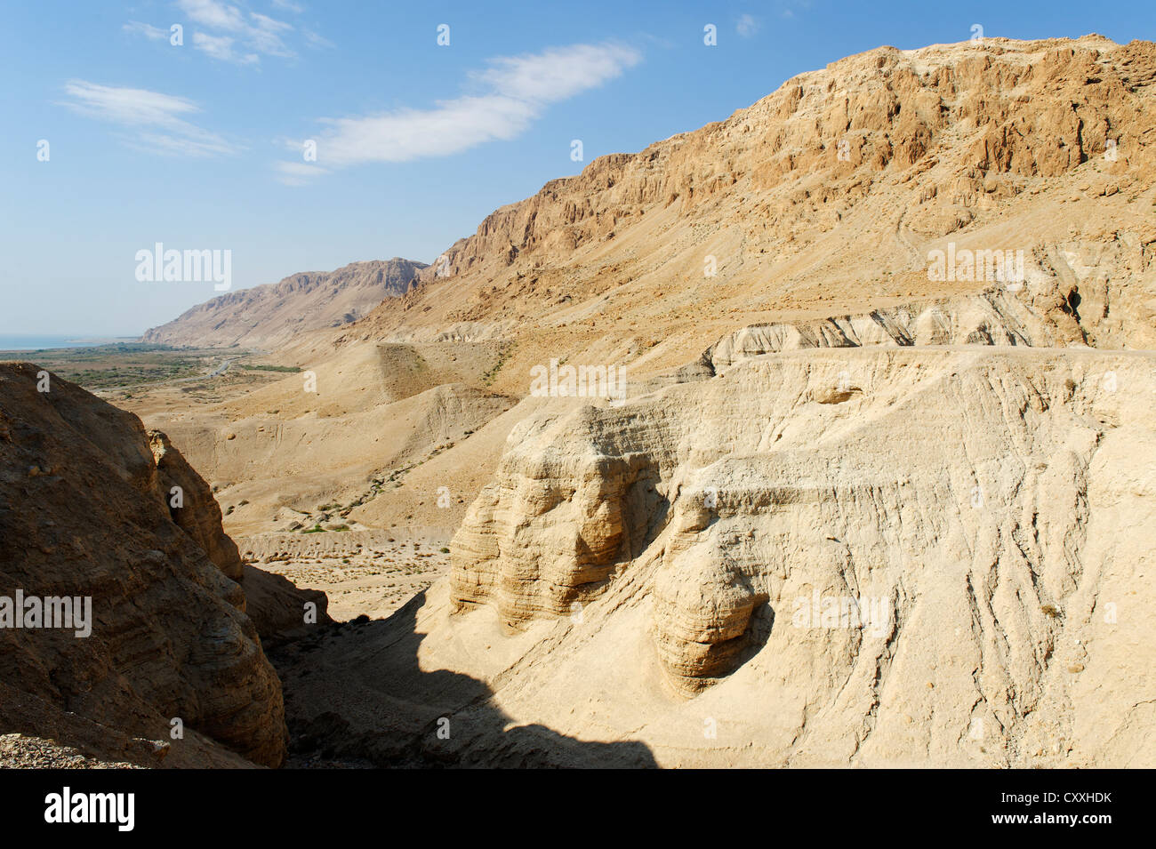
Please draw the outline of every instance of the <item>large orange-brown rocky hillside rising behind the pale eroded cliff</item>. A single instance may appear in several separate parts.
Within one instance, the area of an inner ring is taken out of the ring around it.
[[[517,338],[496,386],[525,390],[551,356],[638,373],[741,325],[978,292],[999,274],[932,252],[1010,251],[1090,343],[1151,347],[1154,82],[1156,45],[1099,36],[850,57],[498,209],[336,345]]]

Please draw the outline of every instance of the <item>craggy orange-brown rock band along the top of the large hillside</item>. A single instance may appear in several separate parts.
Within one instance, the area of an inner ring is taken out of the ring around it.
[[[919,198],[913,229],[944,234],[1030,191],[1024,180],[1059,177],[1110,147],[1119,166],[1112,171],[1126,174],[1138,164],[1136,148],[1150,143],[1142,116],[1154,82],[1156,53],[1144,42],[1121,47],[1089,36],[880,47],[800,74],[725,121],[638,154],[600,157],[578,177],[498,209],[421,276],[535,254],[549,261],[622,238],[655,207],[710,217],[733,209],[722,200],[746,213],[756,244],[806,241],[896,172]],[[950,222],[926,206],[935,198],[961,208]]]

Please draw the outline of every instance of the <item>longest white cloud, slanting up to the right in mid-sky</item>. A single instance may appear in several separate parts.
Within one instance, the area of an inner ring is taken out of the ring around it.
[[[321,119],[325,128],[316,140],[318,161],[325,167],[409,162],[510,140],[525,132],[549,104],[596,88],[639,61],[642,53],[618,44],[577,44],[498,57],[489,67],[468,75],[480,94],[439,100],[429,109]],[[301,141],[287,146],[302,149]],[[316,173],[325,173],[325,169],[282,169],[283,181]]]

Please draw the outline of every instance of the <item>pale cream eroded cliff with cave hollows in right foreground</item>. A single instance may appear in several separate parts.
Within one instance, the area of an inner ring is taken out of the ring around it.
[[[832,349],[556,409],[451,544],[446,623],[492,609],[521,647],[507,710],[568,733],[546,682],[614,688],[601,727],[664,762],[1151,766],[1154,374]]]

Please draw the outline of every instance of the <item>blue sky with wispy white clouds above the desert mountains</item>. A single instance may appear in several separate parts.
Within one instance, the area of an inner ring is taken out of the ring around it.
[[[218,293],[136,280],[136,252],[158,241],[231,251],[234,289],[430,262],[596,156],[721,120],[844,55],[966,40],[976,23],[1156,37],[1149,0],[9,3],[0,334],[136,335]]]

